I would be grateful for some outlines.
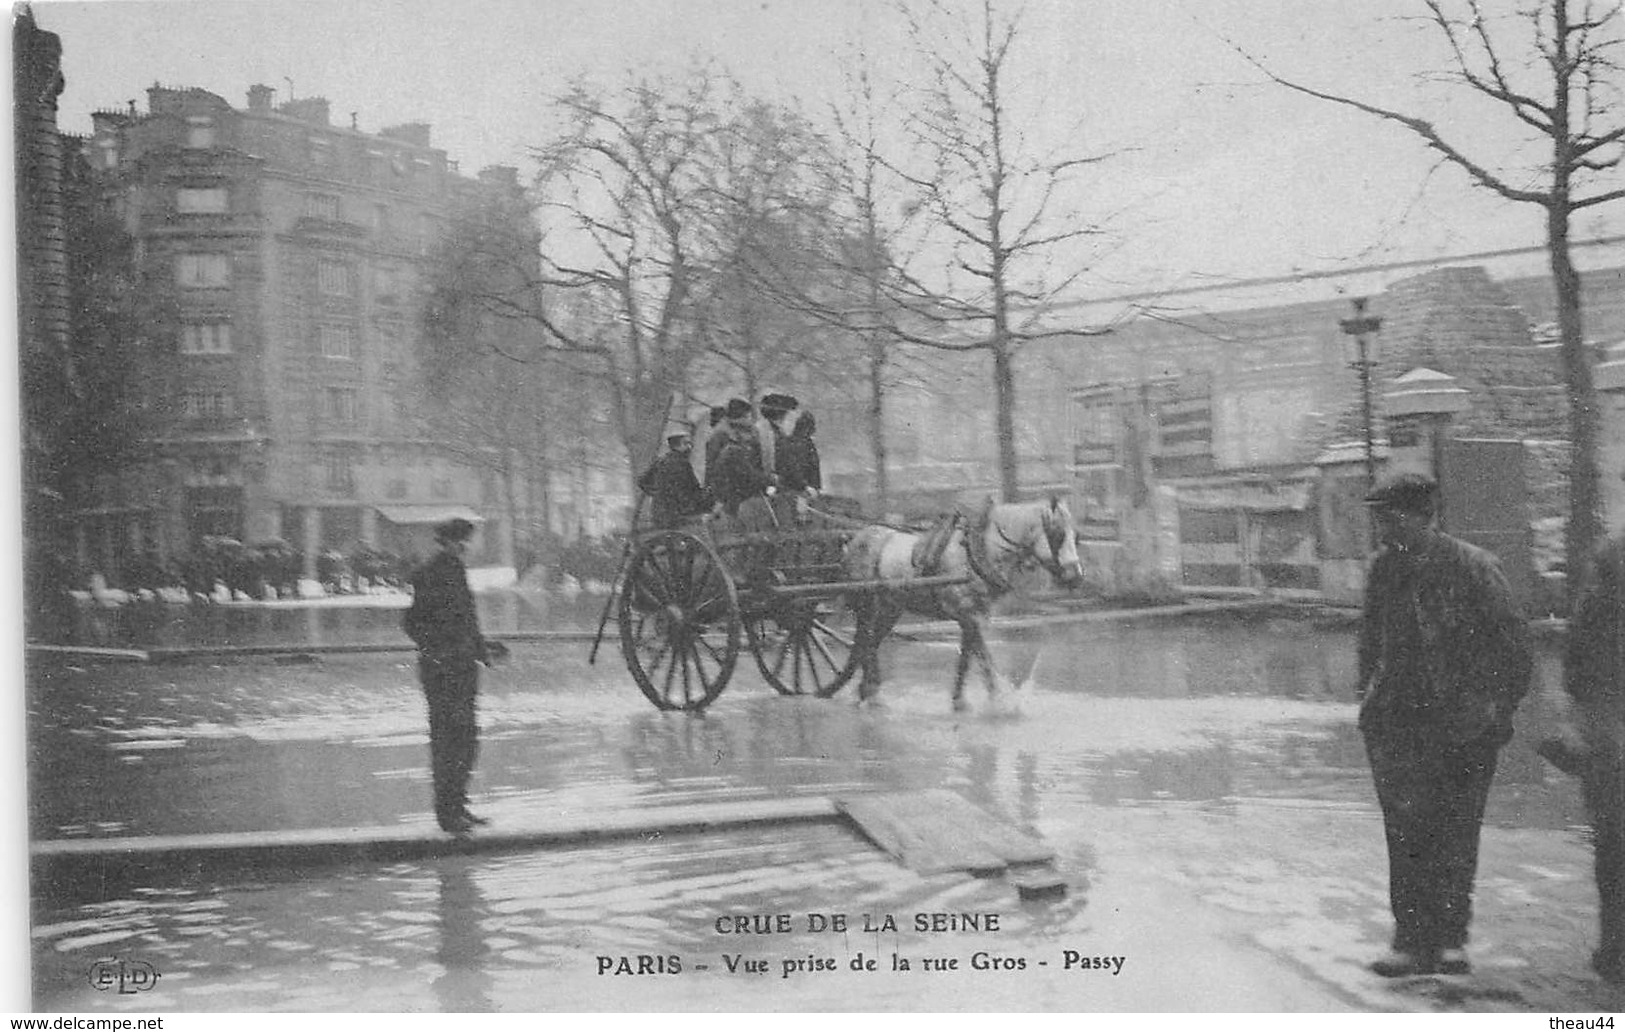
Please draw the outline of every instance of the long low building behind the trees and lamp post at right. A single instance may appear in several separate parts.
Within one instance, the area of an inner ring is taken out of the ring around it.
[[[1586,255],[1586,336],[1625,340],[1625,249]],[[1524,442],[1529,522],[1560,515],[1566,400],[1550,280],[1476,265],[1375,271],[1368,341],[1375,450],[1401,374],[1454,377],[1451,431]],[[1305,284],[1290,284],[1302,296]],[[1313,284],[1310,284],[1313,286]],[[1358,592],[1367,556],[1363,421],[1346,294],[1162,309],[1105,335],[1027,345],[1017,359],[1020,489],[1071,499],[1097,587],[1118,593]],[[889,401],[895,507],[942,510],[998,491],[985,356],[942,362]],[[861,462],[838,488],[861,494]],[[1344,497],[1347,496],[1347,497]]]

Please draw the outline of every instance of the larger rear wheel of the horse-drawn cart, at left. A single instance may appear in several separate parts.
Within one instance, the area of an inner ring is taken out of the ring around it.
[[[637,544],[621,582],[621,653],[663,710],[700,712],[739,658],[739,600],[717,553],[682,531]]]

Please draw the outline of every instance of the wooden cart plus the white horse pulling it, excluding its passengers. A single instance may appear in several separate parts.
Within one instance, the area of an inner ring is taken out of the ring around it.
[[[1072,583],[1081,569],[1071,514],[1058,501],[988,505],[928,535],[827,512],[782,517],[778,530],[733,531],[710,520],[630,541],[611,605],[639,689],[663,710],[717,700],[749,647],[785,696],[827,699],[863,673],[878,689],[878,647],[904,609],[960,626],[954,704],[970,660],[994,689],[988,605],[1025,562]],[[964,587],[960,587],[964,585]],[[603,640],[600,622],[593,657]]]

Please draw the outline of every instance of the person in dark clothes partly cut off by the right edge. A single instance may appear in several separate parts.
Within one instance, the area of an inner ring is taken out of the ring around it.
[[[1625,535],[1609,540],[1580,587],[1568,621],[1563,689],[1575,704],[1578,748],[1540,754],[1581,778],[1591,814],[1601,936],[1591,967],[1625,982]]]

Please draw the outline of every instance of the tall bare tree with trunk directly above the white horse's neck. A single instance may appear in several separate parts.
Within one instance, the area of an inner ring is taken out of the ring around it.
[[[918,190],[923,215],[947,249],[934,283],[913,280],[904,340],[951,351],[988,351],[998,439],[999,489],[1017,494],[1016,351],[1024,341],[1098,330],[1038,328],[1043,309],[1087,271],[1060,254],[1103,223],[1068,208],[1076,174],[1110,154],[1040,153],[1012,109],[1022,15],[1003,16],[975,0],[967,16],[949,0],[900,0],[928,81],[912,107],[910,132],[926,171],[900,174]]]

